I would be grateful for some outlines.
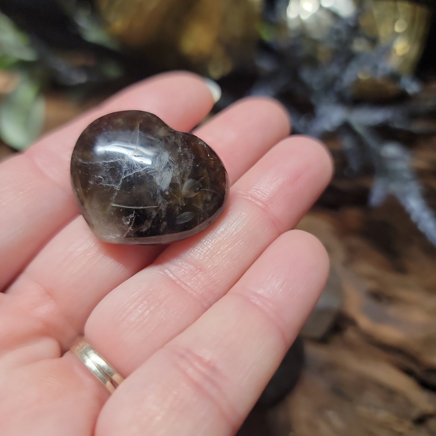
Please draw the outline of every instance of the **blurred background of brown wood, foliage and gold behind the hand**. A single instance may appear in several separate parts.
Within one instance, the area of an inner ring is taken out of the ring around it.
[[[436,435],[435,0],[2,0],[0,160],[186,68],[333,154],[321,299],[238,434]]]

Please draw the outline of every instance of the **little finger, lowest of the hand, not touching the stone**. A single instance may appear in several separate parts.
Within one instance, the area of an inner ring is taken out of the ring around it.
[[[328,257],[313,236],[281,235],[202,317],[118,388],[99,435],[233,435],[315,304]]]

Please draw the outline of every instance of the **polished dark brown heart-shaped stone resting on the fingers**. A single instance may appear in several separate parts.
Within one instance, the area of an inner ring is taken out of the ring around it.
[[[116,244],[188,238],[216,221],[228,199],[227,172],[208,144],[137,110],[86,127],[71,180],[92,231]]]

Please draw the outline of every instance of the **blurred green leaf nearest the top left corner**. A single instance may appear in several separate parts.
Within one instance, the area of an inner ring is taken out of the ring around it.
[[[37,54],[31,47],[27,35],[0,13],[0,57],[8,56],[22,61],[34,61]]]

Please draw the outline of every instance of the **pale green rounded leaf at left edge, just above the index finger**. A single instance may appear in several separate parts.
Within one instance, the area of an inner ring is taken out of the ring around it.
[[[45,116],[44,97],[39,94],[39,84],[27,76],[0,106],[0,136],[15,148],[27,148],[41,133]]]

